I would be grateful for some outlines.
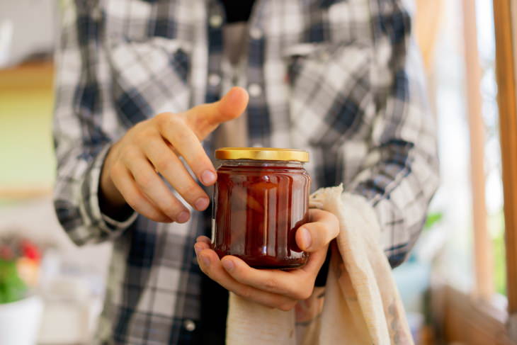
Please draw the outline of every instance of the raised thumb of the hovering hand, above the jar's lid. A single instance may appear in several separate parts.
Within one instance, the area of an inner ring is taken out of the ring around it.
[[[187,111],[187,123],[199,140],[203,140],[220,123],[238,118],[246,109],[248,100],[248,92],[235,86],[220,101],[195,106]]]

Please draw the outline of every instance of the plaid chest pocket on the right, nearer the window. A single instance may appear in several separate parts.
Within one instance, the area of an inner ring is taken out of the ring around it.
[[[303,43],[283,51],[295,142],[336,148],[365,137],[373,121],[371,49],[359,43]]]

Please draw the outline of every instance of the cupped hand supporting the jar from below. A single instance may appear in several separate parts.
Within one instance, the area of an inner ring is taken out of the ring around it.
[[[329,242],[339,233],[337,217],[324,210],[309,210],[309,222],[298,228],[296,243],[309,252],[307,264],[290,271],[255,269],[236,256],[221,260],[210,249],[210,239],[200,236],[194,245],[201,270],[224,288],[261,305],[290,310],[312,294]]]

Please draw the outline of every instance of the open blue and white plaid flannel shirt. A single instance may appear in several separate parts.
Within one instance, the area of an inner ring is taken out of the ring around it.
[[[98,181],[132,125],[220,98],[224,23],[216,0],[64,4],[55,209],[76,244],[113,242],[104,344],[191,344],[203,332],[193,244],[209,217],[116,222],[101,213]],[[343,183],[364,196],[390,263],[402,263],[438,184],[434,118],[402,1],[257,0],[246,55],[249,146],[307,149],[313,190]],[[212,154],[210,138],[204,145]]]

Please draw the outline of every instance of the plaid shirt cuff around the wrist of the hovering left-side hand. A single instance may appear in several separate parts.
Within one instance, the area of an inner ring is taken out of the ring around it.
[[[91,162],[81,187],[83,205],[81,210],[85,213],[86,219],[91,225],[98,227],[101,232],[108,236],[113,236],[126,230],[137,218],[137,213],[133,211],[125,220],[114,220],[101,212],[98,200],[99,181],[104,164],[104,159],[110,150],[111,145],[105,145]]]

